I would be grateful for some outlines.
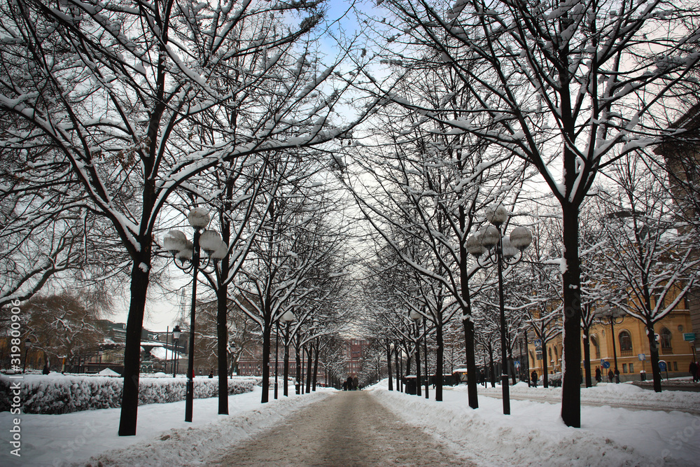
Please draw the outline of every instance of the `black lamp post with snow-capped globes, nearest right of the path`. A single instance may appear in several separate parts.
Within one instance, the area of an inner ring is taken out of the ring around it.
[[[486,220],[491,223],[486,228],[479,230],[476,235],[467,239],[467,251],[477,258],[477,263],[485,267],[481,262],[486,253],[486,262],[495,264],[498,270],[498,305],[500,311],[500,362],[501,375],[500,386],[503,389],[503,413],[510,414],[510,388],[508,386],[508,358],[505,336],[505,302],[503,298],[503,263],[515,265],[522,260],[522,252],[532,242],[532,234],[524,227],[517,227],[510,232],[510,239],[503,237],[501,227],[508,219],[508,211],[502,205],[496,209],[486,211]]]

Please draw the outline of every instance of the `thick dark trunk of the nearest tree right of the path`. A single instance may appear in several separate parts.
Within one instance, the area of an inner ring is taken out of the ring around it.
[[[570,151],[564,148],[564,151]],[[569,158],[565,155],[565,162]],[[564,167],[575,171],[575,167]],[[565,172],[566,173],[566,172]],[[566,176],[575,176],[566,173]],[[567,186],[568,183],[567,183]],[[578,207],[561,203],[563,223],[563,379],[561,419],[581,427],[581,270],[578,258]]]

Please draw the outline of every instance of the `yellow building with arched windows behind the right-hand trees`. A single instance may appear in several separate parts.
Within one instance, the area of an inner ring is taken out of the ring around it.
[[[610,370],[615,370],[615,358],[612,349],[612,335],[615,335],[615,352],[617,352],[617,369],[620,381],[639,380],[640,372],[647,372],[647,379],[652,379],[651,352],[646,328],[642,321],[631,316],[618,318],[615,323],[600,323],[591,326],[589,332],[589,347],[591,356],[591,377],[595,377],[596,368],[601,368],[603,381],[606,380],[608,369],[603,369],[601,361],[610,363]],[[692,332],[690,312],[687,300],[682,300],[679,307],[654,326],[654,332],[659,339],[659,360],[666,362],[668,377],[689,376],[689,365],[694,358],[692,342],[683,340],[684,333]],[[645,360],[640,360],[640,355]],[[581,356],[584,356],[581,342]],[[542,375],[542,358],[547,358],[547,372],[561,372],[561,335],[542,346],[542,351],[535,351],[535,344],[528,343],[530,371],[535,370]],[[584,375],[583,361],[581,374]],[[666,372],[661,374],[664,379]]]

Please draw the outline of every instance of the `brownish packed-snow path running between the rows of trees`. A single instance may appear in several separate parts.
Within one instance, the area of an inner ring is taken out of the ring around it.
[[[471,466],[366,391],[337,392],[223,454],[214,466]]]

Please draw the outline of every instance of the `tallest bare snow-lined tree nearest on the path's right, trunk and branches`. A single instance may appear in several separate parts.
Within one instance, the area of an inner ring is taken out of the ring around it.
[[[503,148],[538,169],[561,204],[563,391],[561,417],[580,426],[580,206],[596,175],[648,146],[665,128],[645,115],[694,69],[695,4],[643,1],[386,0],[384,60],[412,69],[433,57],[479,102],[474,118],[444,118],[372,82],[424,118]],[[386,45],[388,43],[388,45]],[[449,102],[449,95],[445,95]],[[489,119],[483,118],[489,116]]]

